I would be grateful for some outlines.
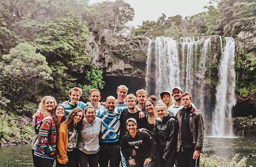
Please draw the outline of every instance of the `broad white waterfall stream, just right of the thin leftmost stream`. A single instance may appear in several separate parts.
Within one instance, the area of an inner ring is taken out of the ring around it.
[[[178,43],[167,37],[157,37],[155,47],[155,94],[165,89],[171,90],[180,83],[180,64],[178,59]]]

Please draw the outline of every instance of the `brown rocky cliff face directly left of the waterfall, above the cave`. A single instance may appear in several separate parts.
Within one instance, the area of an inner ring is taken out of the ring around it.
[[[140,36],[104,36],[99,45],[99,67],[106,76],[146,76],[148,41]]]

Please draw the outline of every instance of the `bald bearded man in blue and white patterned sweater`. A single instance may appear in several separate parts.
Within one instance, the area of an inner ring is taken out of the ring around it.
[[[120,164],[120,115],[128,107],[115,107],[116,99],[114,96],[108,96],[106,99],[107,109],[99,109],[97,116],[102,119],[99,166],[119,167]],[[138,110],[140,110],[138,108]],[[144,114],[142,112],[142,114]],[[145,116],[145,115],[144,115]]]

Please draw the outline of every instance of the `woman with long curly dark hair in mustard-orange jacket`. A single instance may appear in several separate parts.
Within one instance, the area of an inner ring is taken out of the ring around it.
[[[57,144],[56,167],[76,167],[77,164],[77,137],[81,134],[84,111],[73,109],[67,119],[60,124]]]

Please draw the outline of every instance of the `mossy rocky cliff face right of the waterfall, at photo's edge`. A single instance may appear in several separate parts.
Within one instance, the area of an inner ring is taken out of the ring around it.
[[[256,34],[242,31],[237,35],[238,103],[253,106],[256,112]],[[256,116],[254,113],[253,116]]]

